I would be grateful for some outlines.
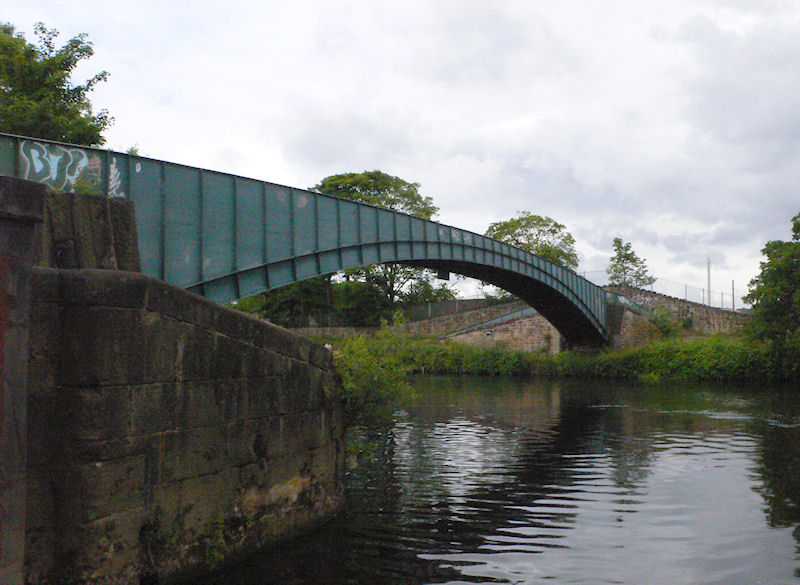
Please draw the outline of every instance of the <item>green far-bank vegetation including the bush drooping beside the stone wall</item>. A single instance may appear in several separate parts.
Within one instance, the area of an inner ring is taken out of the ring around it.
[[[730,380],[774,382],[800,379],[800,348],[783,360],[770,345],[744,336],[673,338],[626,350],[574,350],[555,355],[474,347],[452,341],[398,336],[329,340],[343,379],[348,418],[355,422],[389,416],[407,374],[513,377],[585,377],[663,382]]]

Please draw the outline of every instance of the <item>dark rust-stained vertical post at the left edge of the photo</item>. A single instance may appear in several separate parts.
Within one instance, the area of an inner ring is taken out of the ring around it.
[[[46,187],[0,177],[0,583],[22,585],[33,230]]]

